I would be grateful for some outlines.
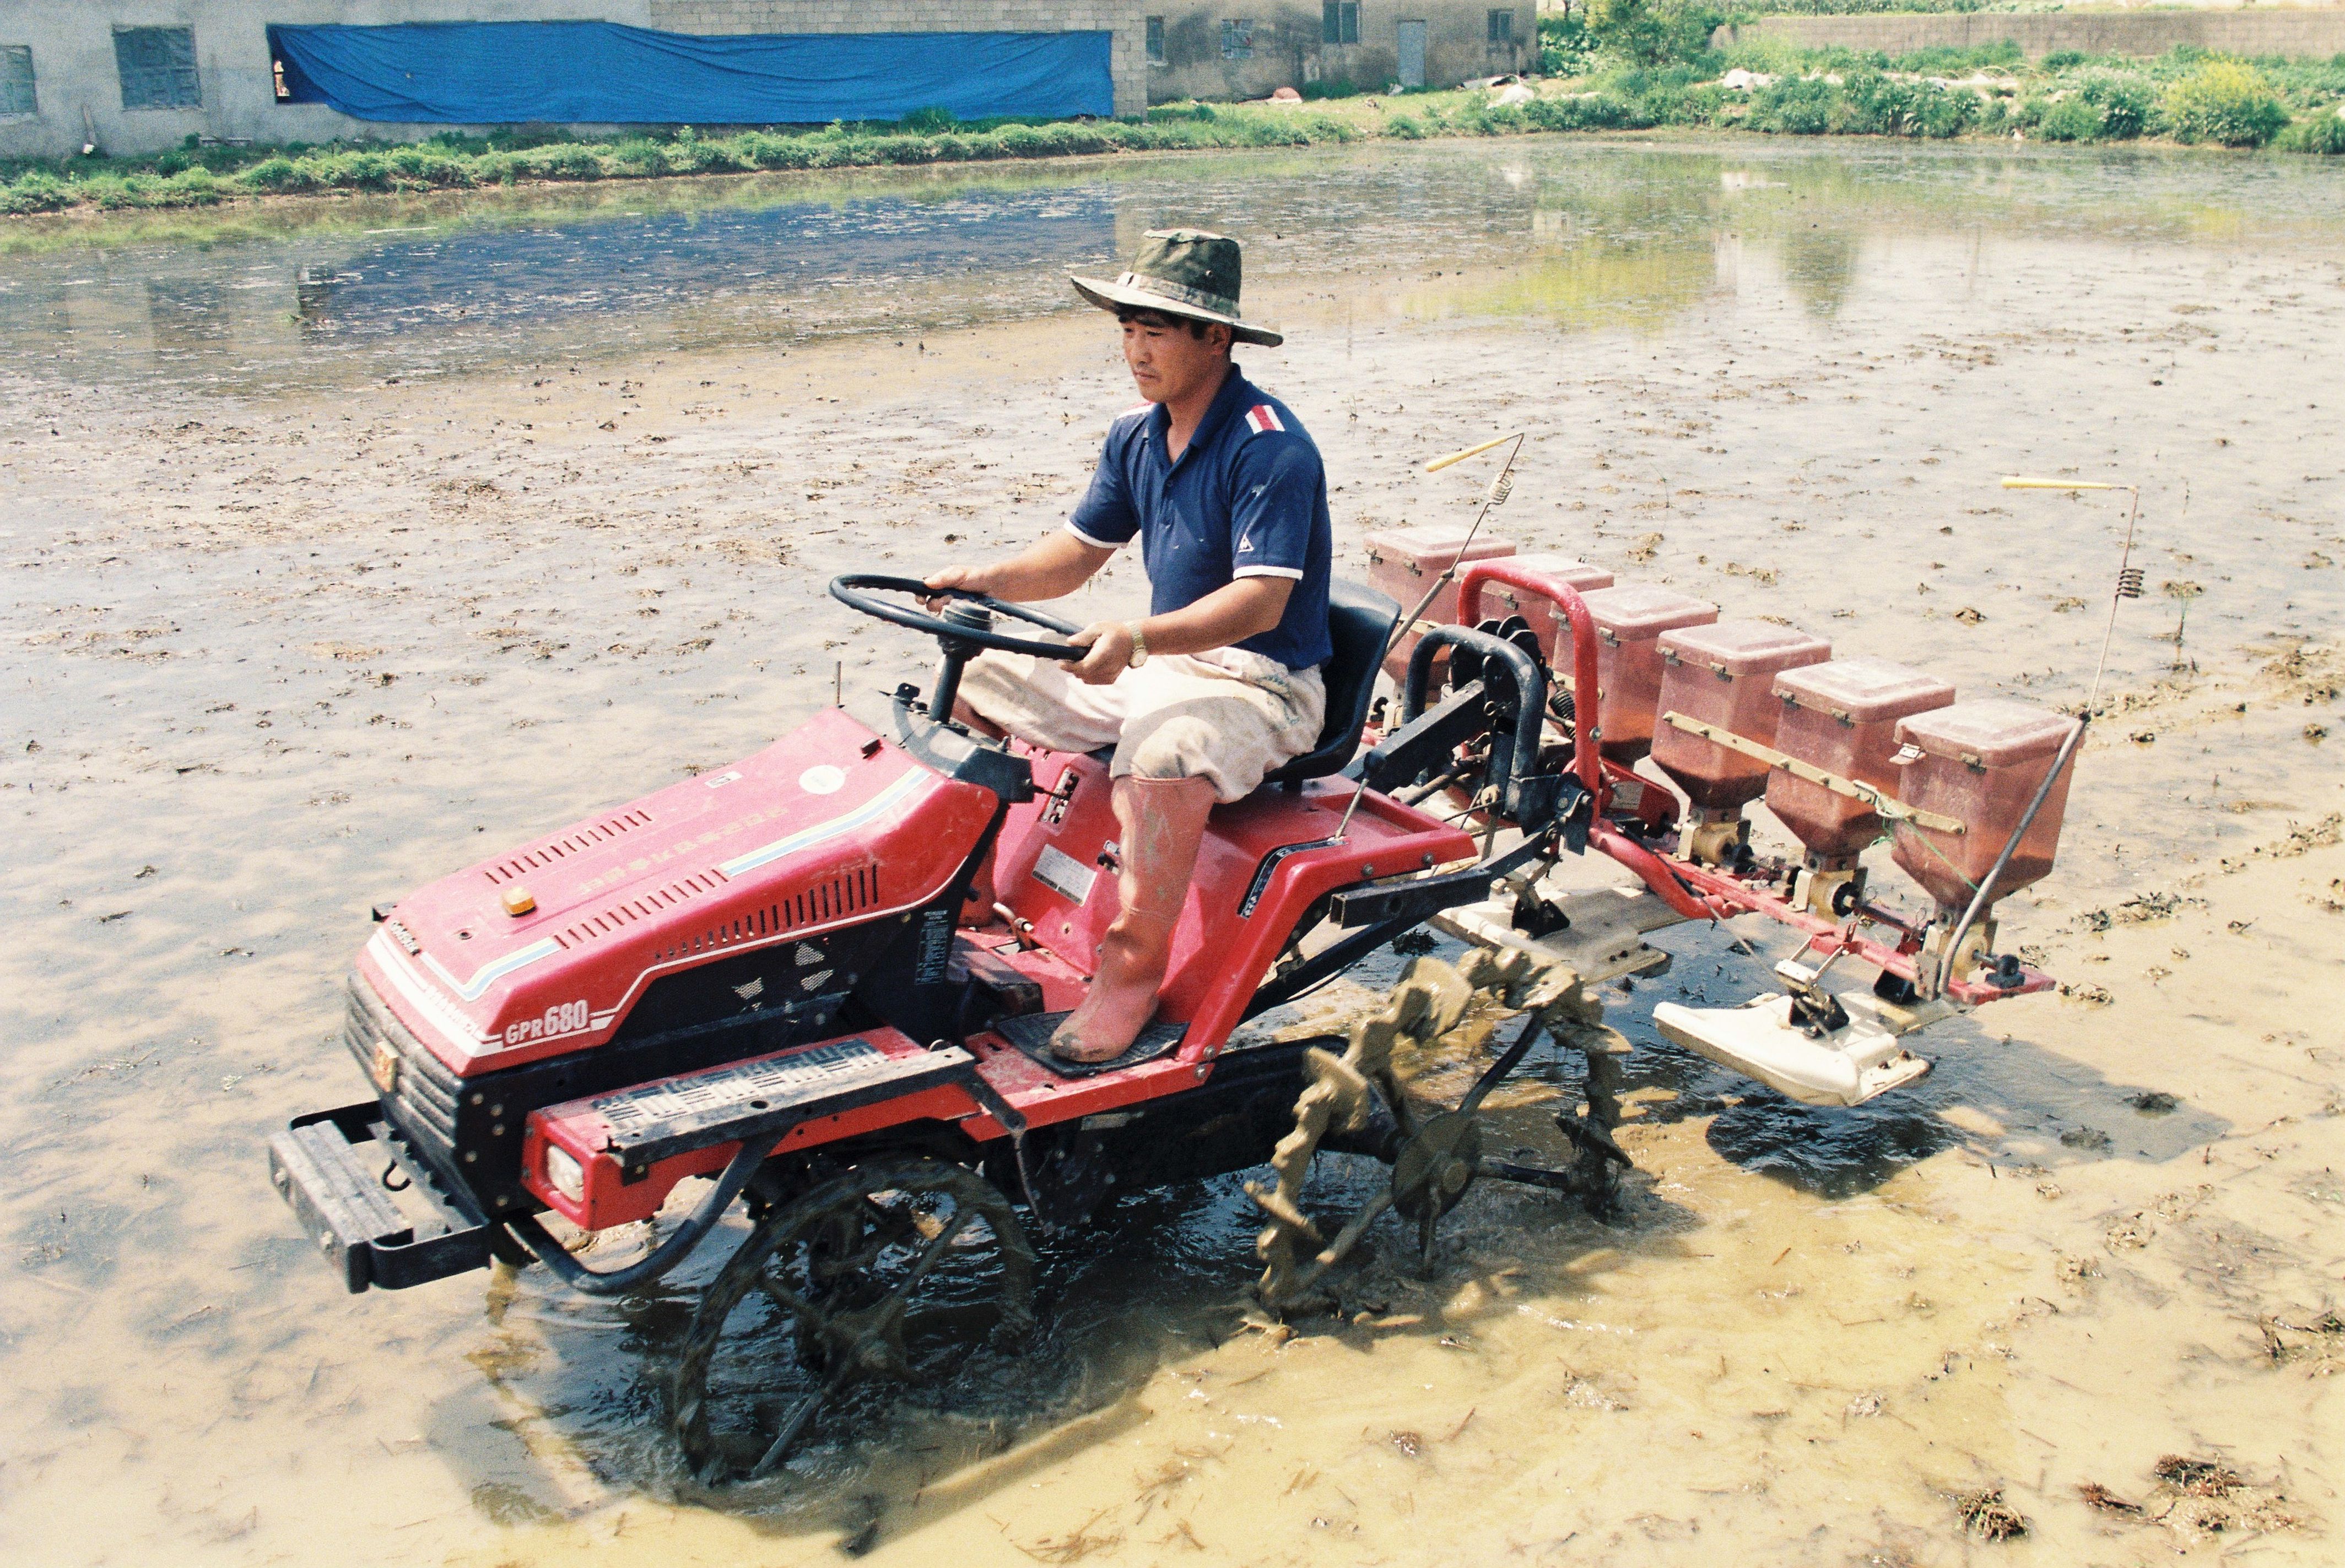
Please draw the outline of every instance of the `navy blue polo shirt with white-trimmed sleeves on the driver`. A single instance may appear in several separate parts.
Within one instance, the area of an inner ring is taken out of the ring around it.
[[[1327,471],[1301,420],[1231,366],[1180,462],[1165,455],[1170,424],[1163,403],[1119,417],[1067,527],[1109,551],[1140,537],[1149,614],[1187,609],[1241,577],[1294,579],[1278,626],[1238,647],[1290,670],[1327,663],[1334,530]]]

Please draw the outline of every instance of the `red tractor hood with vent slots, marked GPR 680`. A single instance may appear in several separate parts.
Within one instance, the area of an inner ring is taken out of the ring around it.
[[[994,804],[828,708],[415,891],[356,968],[457,1073],[565,1055],[607,1041],[661,973],[933,900]]]

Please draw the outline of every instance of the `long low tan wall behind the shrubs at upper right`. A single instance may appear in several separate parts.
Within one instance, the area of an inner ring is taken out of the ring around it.
[[[1808,49],[1977,49],[2003,40],[2042,59],[2059,49],[2082,54],[2164,54],[2197,45],[2216,54],[2286,54],[2329,59],[2345,52],[2345,7],[2157,9],[2157,12],[1967,12],[1909,16],[1763,16],[1719,28],[1712,42],[1773,38]]]

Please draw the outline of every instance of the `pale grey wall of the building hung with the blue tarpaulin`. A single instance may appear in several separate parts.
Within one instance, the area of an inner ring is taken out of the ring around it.
[[[1116,113],[1147,108],[1140,0],[0,0],[0,45],[33,47],[38,113],[0,117],[0,157],[159,152],[223,141],[420,141],[443,124],[277,103],[267,28],[394,21],[619,21],[668,33],[1114,33]],[[117,26],[192,28],[204,105],[124,110]],[[607,129],[607,127],[582,127]]]

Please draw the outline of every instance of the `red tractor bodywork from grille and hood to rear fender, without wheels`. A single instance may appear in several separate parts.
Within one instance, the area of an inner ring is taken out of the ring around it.
[[[924,1120],[985,1144],[1004,1137],[985,1088],[1029,1127],[1196,1088],[1313,900],[1475,853],[1468,834],[1381,797],[1327,841],[1353,795],[1341,785],[1222,806],[1154,1027],[1158,1041],[1177,1029],[1177,1045],[1076,1078],[1032,1043],[954,1031],[964,1071],[929,1080],[910,1071],[943,1043],[917,1038],[924,987],[961,987],[976,966],[1025,1013],[1062,1013],[1116,916],[1104,762],[1027,759],[1053,783],[1004,809],[823,710],[727,769],[403,898],[359,954],[349,1045],[389,1120],[483,1216],[544,1207],[600,1230],[647,1219],[741,1146],[685,1134],[635,1158],[621,1120],[645,1104],[715,1104],[725,1088],[755,1099],[757,1071],[788,1078],[800,1057],[823,1062],[830,1090],[863,1073],[891,1092],[795,1120],[776,1153]],[[959,877],[997,811],[1006,914],[964,928]],[[849,1043],[856,1071],[837,1059]]]

